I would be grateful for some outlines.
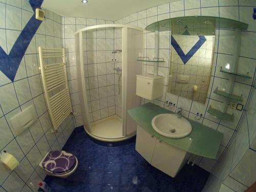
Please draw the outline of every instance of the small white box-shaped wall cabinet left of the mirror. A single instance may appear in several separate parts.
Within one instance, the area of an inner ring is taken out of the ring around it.
[[[153,100],[163,95],[164,77],[152,74],[136,75],[136,95]]]

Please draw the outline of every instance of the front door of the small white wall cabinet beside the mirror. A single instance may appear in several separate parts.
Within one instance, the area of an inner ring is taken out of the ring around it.
[[[153,79],[137,77],[136,94],[152,100]]]

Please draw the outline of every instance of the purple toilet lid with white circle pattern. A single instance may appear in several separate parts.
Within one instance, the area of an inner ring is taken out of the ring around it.
[[[42,167],[46,168],[50,172],[61,174],[69,172],[75,165],[75,156],[65,151],[53,151],[49,152],[44,161]]]

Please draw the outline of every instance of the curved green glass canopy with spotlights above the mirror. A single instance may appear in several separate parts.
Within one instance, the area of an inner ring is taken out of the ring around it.
[[[212,16],[174,17],[148,25],[147,31],[169,31],[179,35],[215,35],[216,29],[246,30],[248,25],[238,20]]]

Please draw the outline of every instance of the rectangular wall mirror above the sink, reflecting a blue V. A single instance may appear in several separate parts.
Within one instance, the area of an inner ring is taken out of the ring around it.
[[[167,91],[205,102],[214,53],[215,36],[173,34]]]

